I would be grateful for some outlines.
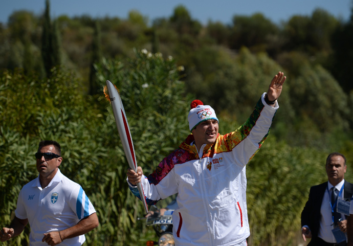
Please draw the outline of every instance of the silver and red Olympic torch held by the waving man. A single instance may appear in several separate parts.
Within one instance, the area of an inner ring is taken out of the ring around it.
[[[133,139],[131,138],[129,125],[127,124],[126,114],[124,110],[123,103],[121,101],[120,95],[113,85],[113,83],[109,80],[105,81],[106,86],[108,88],[109,99],[111,100],[113,113],[115,122],[118,127],[118,132],[120,136],[121,143],[123,144],[123,149],[125,152],[126,160],[131,169],[135,172],[137,171],[137,163],[136,163],[136,155],[133,144]],[[146,197],[143,192],[141,183],[137,183],[137,188],[139,189],[141,200],[143,202],[143,206],[145,208],[145,212],[148,213],[148,207],[146,203]]]

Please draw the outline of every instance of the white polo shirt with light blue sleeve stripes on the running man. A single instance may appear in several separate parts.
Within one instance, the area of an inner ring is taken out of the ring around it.
[[[28,219],[32,246],[47,245],[41,241],[44,233],[73,227],[95,212],[82,187],[58,170],[46,188],[41,188],[38,176],[21,189],[15,214],[19,219]],[[82,245],[84,241],[84,235],[80,235],[60,245]]]

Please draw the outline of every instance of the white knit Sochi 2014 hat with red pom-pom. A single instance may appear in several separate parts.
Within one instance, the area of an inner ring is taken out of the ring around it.
[[[189,129],[192,131],[198,124],[205,120],[216,120],[214,109],[209,105],[204,105],[200,100],[193,100],[190,104],[191,110],[188,115]]]

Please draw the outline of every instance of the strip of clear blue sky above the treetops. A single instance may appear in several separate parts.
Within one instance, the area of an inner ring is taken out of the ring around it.
[[[170,17],[173,9],[180,4],[202,24],[207,24],[208,20],[230,24],[234,15],[249,16],[256,12],[279,24],[293,15],[311,15],[316,8],[348,20],[353,0],[51,0],[51,17],[88,14],[92,17],[126,18],[130,10],[138,10],[153,20]],[[28,10],[39,15],[44,9],[45,0],[0,0],[0,22],[7,23],[13,11]]]

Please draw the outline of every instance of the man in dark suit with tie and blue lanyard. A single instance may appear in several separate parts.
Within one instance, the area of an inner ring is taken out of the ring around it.
[[[338,231],[336,235],[342,232],[341,236],[345,237],[347,232],[345,215],[336,212],[337,196],[350,198],[353,194],[353,184],[344,181],[346,170],[345,156],[338,152],[330,153],[326,159],[328,182],[310,188],[309,199],[301,213],[302,237],[304,241],[312,238],[308,246],[347,244],[346,240],[337,243],[333,233],[335,228]]]

